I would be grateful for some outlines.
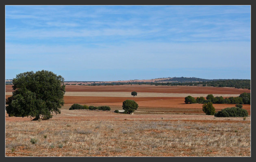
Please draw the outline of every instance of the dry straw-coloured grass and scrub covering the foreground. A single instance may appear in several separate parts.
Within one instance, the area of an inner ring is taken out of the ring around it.
[[[6,122],[6,156],[251,156],[250,141],[249,121]]]

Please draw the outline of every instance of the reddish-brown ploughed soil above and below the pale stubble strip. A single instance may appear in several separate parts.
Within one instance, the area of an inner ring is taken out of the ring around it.
[[[12,86],[6,85],[6,92],[11,92]],[[67,92],[147,92],[147,93],[198,93],[198,94],[241,94],[250,93],[248,89],[220,88],[220,87],[200,87],[200,86],[152,86],[152,85],[116,85],[116,86],[72,86],[66,85]],[[10,95],[6,95],[6,98]],[[225,98],[225,97],[224,97]],[[92,97],[92,96],[64,96],[65,106],[68,109],[72,104],[87,105],[108,105],[111,109],[122,109],[122,102],[126,99],[135,100],[139,109],[146,110],[145,107],[152,108],[154,112],[191,112],[201,114],[202,104],[185,104],[184,97]],[[234,107],[235,104],[213,104],[216,111],[226,107]],[[162,108],[161,110],[159,108]],[[165,108],[165,110],[163,110]],[[169,108],[169,110],[168,110]],[[243,105],[243,108],[250,115],[250,105]],[[138,111],[139,111],[138,109]],[[175,109],[175,111],[174,111]],[[178,111],[177,109],[180,109]],[[199,111],[199,109],[201,109]],[[173,110],[173,111],[172,111]]]

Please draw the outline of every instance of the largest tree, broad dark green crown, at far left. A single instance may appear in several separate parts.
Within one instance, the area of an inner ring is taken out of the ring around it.
[[[30,116],[38,120],[61,114],[64,105],[64,78],[46,70],[25,72],[13,79],[13,95],[6,99],[9,116]]]

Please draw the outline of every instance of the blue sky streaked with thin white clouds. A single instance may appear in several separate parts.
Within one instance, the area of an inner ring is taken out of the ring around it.
[[[251,6],[5,7],[5,78],[251,78]]]

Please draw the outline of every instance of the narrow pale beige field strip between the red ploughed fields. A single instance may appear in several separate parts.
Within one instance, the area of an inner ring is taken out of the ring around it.
[[[208,94],[192,93],[138,93],[136,97],[206,97]],[[215,97],[237,97],[240,94],[213,94]],[[65,92],[65,96],[131,97],[130,92]]]

